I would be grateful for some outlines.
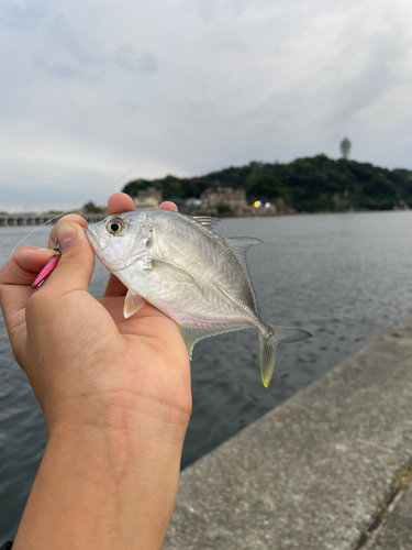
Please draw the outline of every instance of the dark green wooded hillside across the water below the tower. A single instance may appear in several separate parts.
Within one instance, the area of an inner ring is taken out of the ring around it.
[[[123,191],[134,197],[148,186],[162,189],[164,199],[199,197],[208,187],[241,188],[249,202],[282,198],[298,212],[412,208],[412,172],[326,155],[289,164],[252,162],[192,178],[136,179]]]

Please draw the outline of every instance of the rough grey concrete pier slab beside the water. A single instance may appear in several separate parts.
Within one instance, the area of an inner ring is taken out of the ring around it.
[[[186,469],[164,550],[370,548],[411,461],[412,318]],[[412,549],[405,495],[374,550]]]

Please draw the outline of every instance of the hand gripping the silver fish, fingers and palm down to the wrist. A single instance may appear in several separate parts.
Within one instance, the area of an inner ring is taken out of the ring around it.
[[[109,200],[109,215],[132,209],[126,195]],[[30,285],[52,251],[23,246],[0,272],[13,352],[47,428],[104,422],[104,409],[113,405],[141,408],[152,417],[151,429],[159,424],[170,437],[179,436],[176,431],[183,436],[191,407],[190,371],[179,330],[148,305],[124,319],[126,289],[113,275],[103,298],[89,295],[94,255],[81,229],[86,226],[81,217],[69,215],[53,228],[48,244],[53,248],[57,237],[63,253],[41,288]]]

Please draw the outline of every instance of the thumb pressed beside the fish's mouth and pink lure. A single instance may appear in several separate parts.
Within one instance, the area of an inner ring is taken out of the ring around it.
[[[81,226],[74,222],[56,224],[56,237],[60,244],[60,260],[51,274],[48,292],[87,290],[93,273],[94,253]]]

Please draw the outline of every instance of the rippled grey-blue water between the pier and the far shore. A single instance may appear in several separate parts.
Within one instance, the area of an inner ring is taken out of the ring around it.
[[[0,228],[1,264],[29,231]],[[248,253],[264,320],[304,328],[314,338],[278,348],[267,389],[255,330],[199,342],[183,466],[412,315],[412,212],[237,218],[223,220],[218,232],[265,242]],[[29,242],[44,246],[47,235],[42,228]],[[97,263],[94,297],[107,278]],[[1,542],[15,532],[46,442],[42,411],[14,362],[2,317],[0,426]]]

